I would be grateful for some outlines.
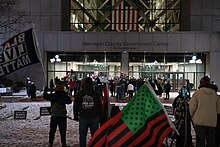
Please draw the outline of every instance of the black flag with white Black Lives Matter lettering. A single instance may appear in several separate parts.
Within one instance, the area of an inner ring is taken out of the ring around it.
[[[13,36],[0,46],[0,77],[39,62],[33,28]]]

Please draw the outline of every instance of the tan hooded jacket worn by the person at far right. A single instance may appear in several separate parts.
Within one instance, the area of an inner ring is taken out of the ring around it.
[[[195,125],[216,127],[217,114],[220,113],[217,89],[214,84],[204,84],[193,93],[189,101],[189,110]]]

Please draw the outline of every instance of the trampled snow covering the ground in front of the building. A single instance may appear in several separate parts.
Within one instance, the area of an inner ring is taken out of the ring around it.
[[[42,93],[39,92],[39,95]],[[13,94],[14,97],[26,98],[25,91]],[[172,96],[173,98],[174,96]],[[162,98],[161,98],[162,99]],[[165,101],[165,100],[162,100]],[[167,102],[167,101],[165,101]],[[122,105],[122,104],[121,104]],[[40,116],[40,107],[49,107],[50,102],[0,102],[0,146],[1,147],[47,147],[50,116]],[[14,119],[14,111],[27,111],[25,120]],[[67,144],[79,146],[79,123],[72,120],[73,104],[67,105]],[[195,136],[193,135],[193,138]],[[87,141],[90,139],[88,133]],[[194,138],[195,139],[195,138]],[[61,146],[57,129],[54,147]]]

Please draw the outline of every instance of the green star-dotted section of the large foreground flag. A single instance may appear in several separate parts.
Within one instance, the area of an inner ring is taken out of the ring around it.
[[[146,119],[162,109],[153,93],[149,85],[143,84],[122,110],[121,119],[133,133],[144,126]]]

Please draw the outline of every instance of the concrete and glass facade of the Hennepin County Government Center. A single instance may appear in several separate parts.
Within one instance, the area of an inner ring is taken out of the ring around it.
[[[10,76],[22,73],[38,88],[70,71],[77,78],[168,79],[174,91],[185,79],[196,89],[204,75],[220,85],[218,0],[20,2],[33,18],[42,64]]]

